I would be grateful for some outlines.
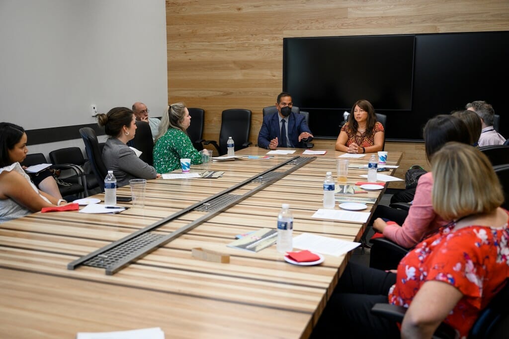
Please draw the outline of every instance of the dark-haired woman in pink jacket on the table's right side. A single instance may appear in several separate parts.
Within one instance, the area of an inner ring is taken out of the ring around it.
[[[424,127],[423,137],[426,143],[426,157],[430,163],[433,163],[433,154],[448,141],[470,143],[470,134],[465,123],[451,115],[437,115],[430,119]],[[373,228],[400,246],[405,248],[415,246],[425,234],[447,224],[447,221],[433,210],[432,189],[433,176],[428,172],[419,178],[414,200],[403,225],[387,224],[382,218],[377,218],[373,222]],[[375,215],[380,216],[381,213],[375,211]]]

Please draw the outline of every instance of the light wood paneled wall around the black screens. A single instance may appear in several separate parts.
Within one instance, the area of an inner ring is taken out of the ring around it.
[[[205,109],[212,140],[222,110],[249,109],[256,143],[282,89],[285,37],[506,30],[507,0],[166,0],[168,100]]]

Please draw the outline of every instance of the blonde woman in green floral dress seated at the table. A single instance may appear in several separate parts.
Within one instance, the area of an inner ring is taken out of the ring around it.
[[[182,102],[174,103],[163,114],[154,145],[154,167],[157,173],[180,168],[180,159],[191,159],[192,165],[202,163],[201,154],[193,147],[186,133],[191,116]]]

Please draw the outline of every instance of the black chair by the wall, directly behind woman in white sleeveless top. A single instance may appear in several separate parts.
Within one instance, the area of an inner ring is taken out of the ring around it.
[[[30,167],[33,165],[46,164],[46,157],[44,157],[43,153],[32,153],[26,154],[25,160],[21,163],[21,166]],[[50,169],[55,170],[71,170],[74,173],[74,176],[79,178],[76,182],[72,182],[72,180],[67,181],[67,178],[58,179],[57,184],[59,186],[60,194],[63,197],[66,196],[79,196],[79,197],[87,197],[87,179],[84,176],[84,173],[76,166],[69,164],[53,164],[49,167]]]

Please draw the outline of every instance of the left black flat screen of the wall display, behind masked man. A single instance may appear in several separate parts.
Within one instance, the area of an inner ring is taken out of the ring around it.
[[[283,88],[296,106],[411,110],[414,35],[285,38]]]

